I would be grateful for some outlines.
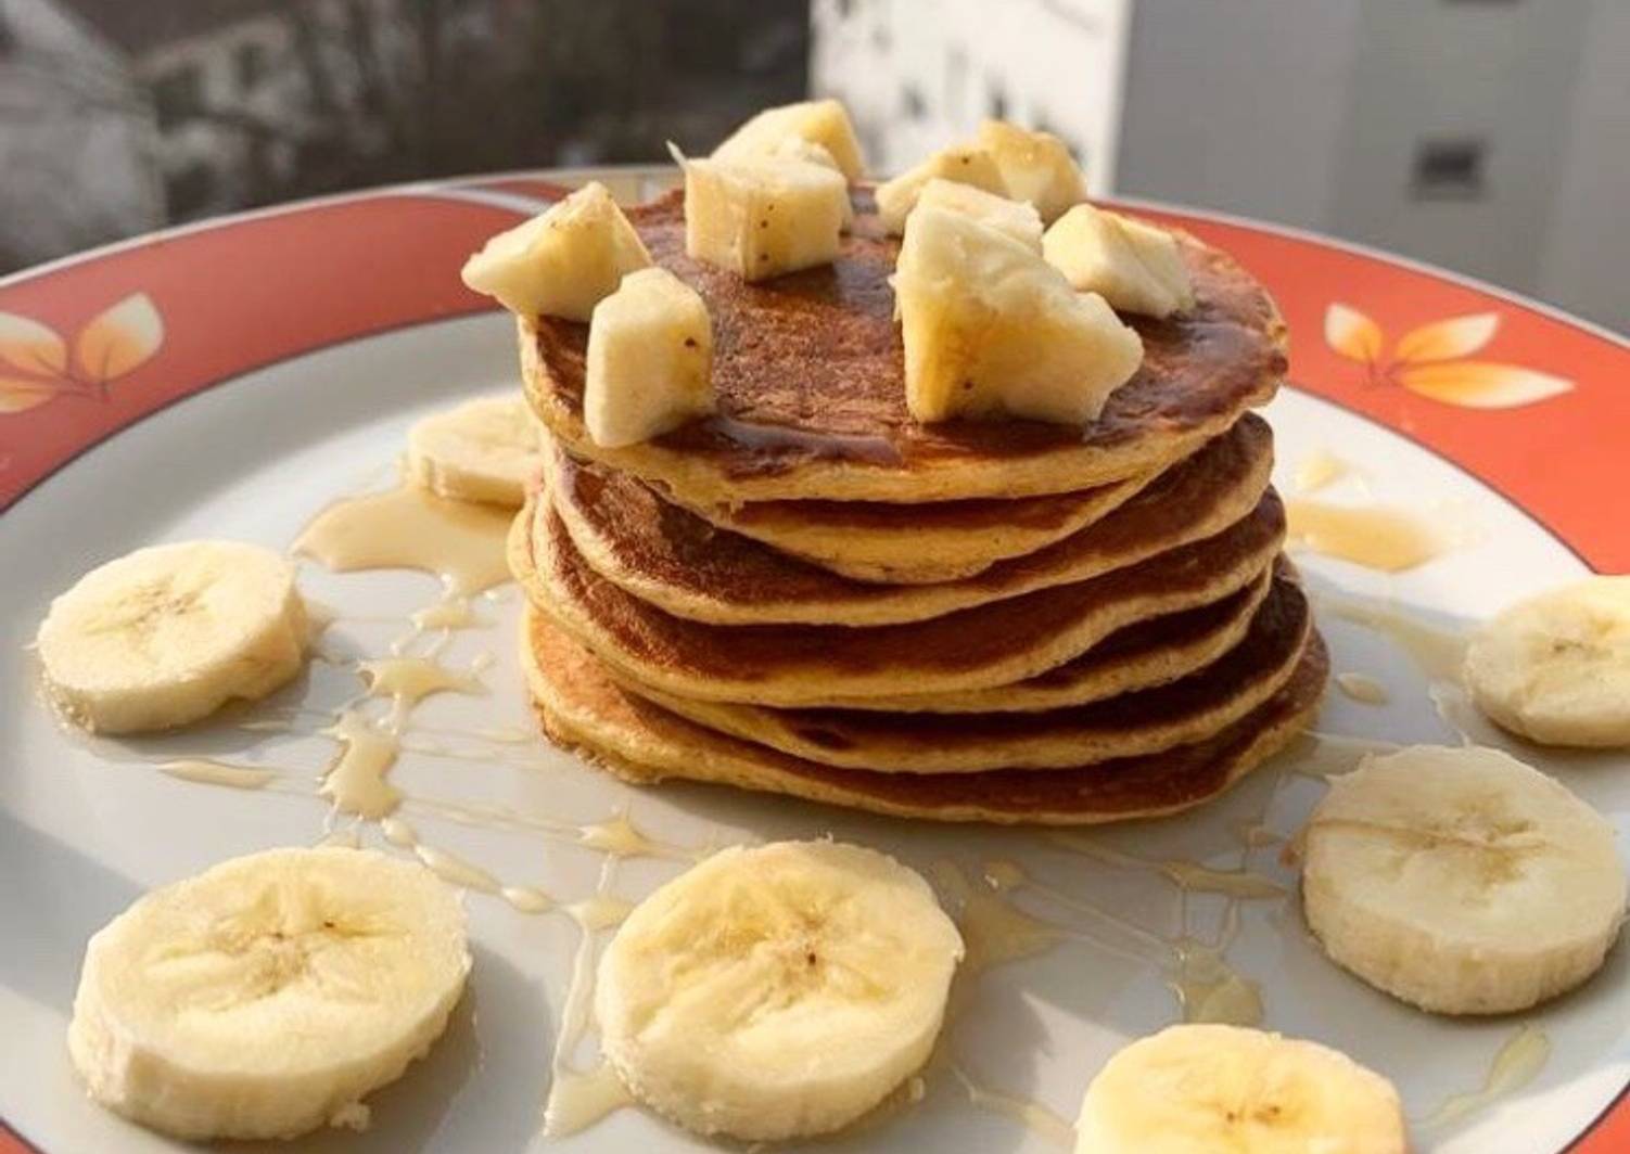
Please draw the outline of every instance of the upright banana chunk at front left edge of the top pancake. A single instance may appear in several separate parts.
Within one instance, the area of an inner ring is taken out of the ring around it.
[[[588,326],[588,435],[597,445],[634,445],[712,407],[712,328],[701,293],[667,269],[629,274]]]

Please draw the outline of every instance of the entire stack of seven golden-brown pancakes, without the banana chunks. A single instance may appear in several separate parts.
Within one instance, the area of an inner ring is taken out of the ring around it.
[[[1327,658],[1250,412],[1284,373],[1268,295],[1182,238],[1198,303],[1099,421],[918,424],[898,241],[761,284],[629,212],[714,326],[717,414],[624,448],[582,419],[588,328],[522,319],[551,434],[515,522],[549,733],[688,777],[942,820],[1090,823],[1201,802],[1294,737]]]

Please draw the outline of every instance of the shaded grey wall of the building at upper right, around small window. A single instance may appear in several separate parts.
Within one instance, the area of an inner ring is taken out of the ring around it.
[[[1630,329],[1630,0],[1138,0],[1117,191],[1302,225]],[[1483,140],[1475,199],[1412,186]]]

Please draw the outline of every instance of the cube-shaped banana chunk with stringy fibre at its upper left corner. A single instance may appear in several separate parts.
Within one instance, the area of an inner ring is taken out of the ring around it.
[[[830,264],[851,217],[849,186],[825,165],[685,161],[685,251],[743,280]]]

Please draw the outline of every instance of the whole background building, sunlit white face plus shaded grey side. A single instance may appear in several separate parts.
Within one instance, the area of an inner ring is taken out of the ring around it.
[[[981,116],[1094,194],[1405,253],[1630,331],[1627,0],[815,0],[810,80],[898,171]]]

